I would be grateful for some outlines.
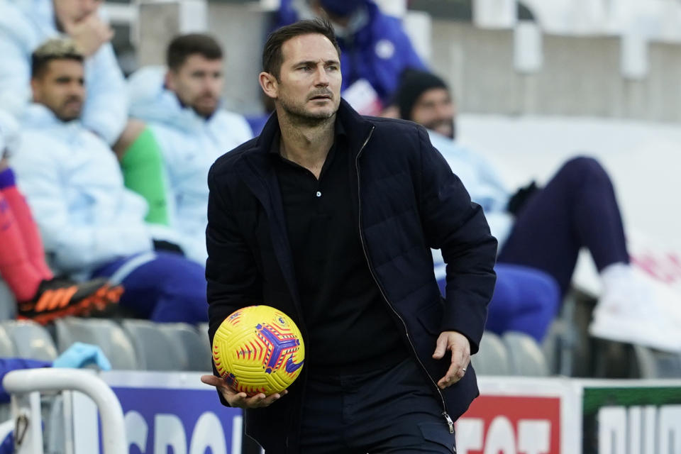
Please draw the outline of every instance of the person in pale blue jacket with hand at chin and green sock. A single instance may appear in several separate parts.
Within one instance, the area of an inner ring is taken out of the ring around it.
[[[147,221],[167,224],[165,176],[153,135],[128,121],[128,97],[102,0],[0,0],[0,109],[16,118],[31,102],[31,52],[45,40],[72,38],[86,61],[82,124],[121,159],[126,186],[147,199]]]

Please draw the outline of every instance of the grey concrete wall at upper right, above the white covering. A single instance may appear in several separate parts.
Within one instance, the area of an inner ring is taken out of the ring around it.
[[[477,114],[567,115],[681,120],[681,45],[650,43],[648,73],[621,74],[621,40],[543,35],[543,65],[514,68],[514,32],[433,21],[433,70]]]

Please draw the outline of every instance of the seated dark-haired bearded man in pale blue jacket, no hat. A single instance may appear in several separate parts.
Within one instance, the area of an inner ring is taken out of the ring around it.
[[[223,52],[214,38],[178,36],[166,60],[167,68],[145,67],[130,77],[130,114],[148,123],[160,144],[170,226],[182,234],[187,258],[205,265],[208,170],[253,134],[243,116],[220,108]]]

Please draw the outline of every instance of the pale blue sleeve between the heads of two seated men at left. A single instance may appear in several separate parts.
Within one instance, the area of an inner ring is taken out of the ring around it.
[[[128,121],[128,90],[110,43],[87,60],[86,69],[83,125],[113,145]]]

